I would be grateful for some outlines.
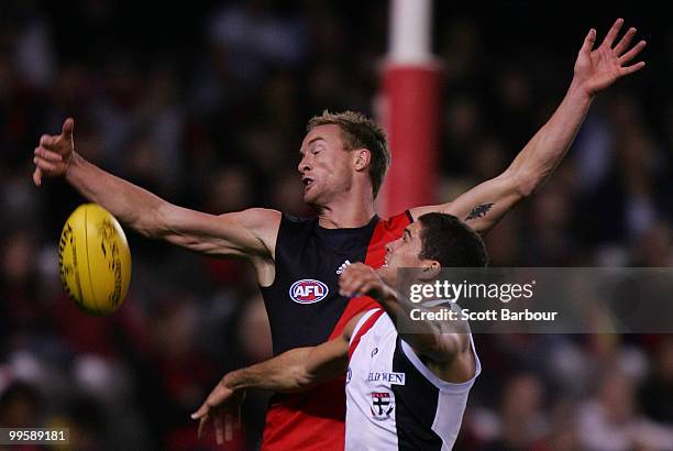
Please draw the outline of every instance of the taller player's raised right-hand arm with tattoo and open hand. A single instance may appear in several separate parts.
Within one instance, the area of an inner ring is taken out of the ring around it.
[[[589,30],[580,48],[565,98],[503,174],[477,185],[452,202],[415,208],[411,210],[413,217],[441,211],[456,216],[477,232],[485,233],[521,199],[533,194],[563,160],[594,97],[617,79],[644,67],[643,62],[629,65],[646,46],[646,42],[640,41],[629,48],[636,29],[629,29],[613,46],[622,24],[624,20],[618,19],[596,50],[593,50],[596,31]]]

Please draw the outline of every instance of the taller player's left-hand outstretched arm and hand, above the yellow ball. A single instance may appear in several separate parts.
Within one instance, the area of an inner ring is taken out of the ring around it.
[[[43,176],[64,177],[82,196],[146,237],[210,255],[273,258],[279,212],[250,209],[214,216],[172,205],[87,162],[75,152],[74,128],[69,118],[59,135],[40,139],[33,160],[36,186]]]

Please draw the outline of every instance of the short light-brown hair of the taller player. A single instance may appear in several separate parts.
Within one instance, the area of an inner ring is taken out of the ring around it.
[[[339,125],[343,145],[347,151],[366,148],[371,152],[369,179],[372,180],[372,188],[376,198],[388,166],[390,166],[390,150],[388,148],[386,132],[376,122],[362,113],[354,111],[331,113],[327,110],[321,116],[309,120],[306,131],[310,132],[316,127],[330,124]]]

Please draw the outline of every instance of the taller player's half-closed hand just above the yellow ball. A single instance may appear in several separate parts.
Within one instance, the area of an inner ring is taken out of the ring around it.
[[[75,150],[74,128],[75,120],[68,118],[63,123],[59,135],[43,134],[40,139],[40,145],[35,147],[35,156],[33,157],[35,164],[33,183],[35,186],[42,185],[43,176],[63,177],[67,174],[73,163],[73,152]]]

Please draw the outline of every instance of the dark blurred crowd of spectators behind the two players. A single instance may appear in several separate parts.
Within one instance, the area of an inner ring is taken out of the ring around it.
[[[189,414],[225,372],[271,355],[252,270],[126,230],[130,295],[111,317],[86,316],[57,266],[60,229],[84,199],[62,180],[35,188],[33,148],[71,116],[86,158],[175,204],[312,215],[296,169],[306,121],[327,108],[373,113],[388,8],[137,3],[0,7],[0,427],[68,427],[76,449],[216,449]],[[602,40],[624,14],[639,29],[646,69],[595,101],[553,179],[486,244],[494,266],[671,266],[666,14],[435,9],[443,201],[499,174],[544,123],[589,26]],[[475,342],[483,372],[456,450],[673,449],[673,337]],[[267,397],[249,394],[227,449],[258,446]]]

